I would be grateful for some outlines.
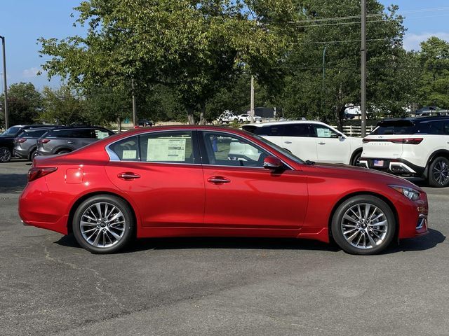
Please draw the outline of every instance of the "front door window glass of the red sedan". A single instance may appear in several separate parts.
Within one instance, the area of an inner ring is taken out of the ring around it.
[[[245,139],[220,132],[203,132],[208,164],[234,167],[263,167],[269,153]]]

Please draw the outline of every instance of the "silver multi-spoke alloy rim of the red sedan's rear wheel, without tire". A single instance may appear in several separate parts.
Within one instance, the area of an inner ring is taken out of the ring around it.
[[[121,241],[126,230],[126,220],[114,204],[98,202],[83,212],[79,228],[88,244],[107,248]]]

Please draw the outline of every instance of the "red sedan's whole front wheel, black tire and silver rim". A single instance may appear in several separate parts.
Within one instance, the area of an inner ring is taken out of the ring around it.
[[[365,215],[366,204],[370,204],[368,215]],[[358,206],[360,206],[360,209]],[[354,215],[351,209],[356,209]],[[353,220],[349,221],[347,219],[347,216],[345,216],[347,212]],[[357,214],[364,220],[363,223],[358,219]],[[380,216],[380,218],[376,218],[377,216]],[[370,221],[371,218],[375,218],[375,220]],[[376,223],[380,225],[375,225]],[[331,232],[337,245],[347,253],[360,255],[376,254],[387,248],[394,239],[396,218],[389,205],[380,200],[380,198],[371,195],[357,195],[344,201],[337,208],[332,218]],[[363,241],[361,239],[362,236]],[[351,238],[353,240],[350,240]],[[375,244],[372,244],[371,241]]]

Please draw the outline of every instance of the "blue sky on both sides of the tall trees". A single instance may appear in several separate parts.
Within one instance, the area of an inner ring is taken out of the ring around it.
[[[449,1],[448,0],[380,0],[384,6],[395,3],[399,13],[406,17],[404,25],[408,29],[404,47],[419,49],[421,41],[429,36],[438,36],[449,41]],[[18,82],[32,82],[38,89],[44,85],[58,87],[60,81],[48,82],[45,74],[36,76],[44,59],[39,57],[37,38],[64,38],[82,34],[74,28],[75,6],[80,0],[3,0],[0,6],[0,35],[6,36],[6,66],[8,85]],[[429,10],[440,8],[438,10]],[[1,67],[0,67],[1,68]],[[2,69],[2,68],[1,68]],[[0,72],[3,71],[0,69]],[[3,81],[0,81],[3,90]]]

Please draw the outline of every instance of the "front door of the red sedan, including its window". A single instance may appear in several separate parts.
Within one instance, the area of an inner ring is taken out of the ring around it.
[[[307,210],[307,178],[301,172],[263,168],[269,155],[237,135],[199,132],[208,228],[299,230]],[[253,232],[254,233],[254,232]]]

